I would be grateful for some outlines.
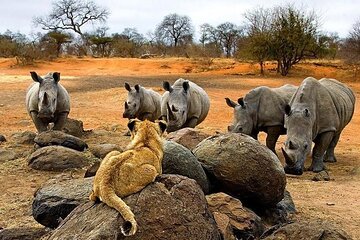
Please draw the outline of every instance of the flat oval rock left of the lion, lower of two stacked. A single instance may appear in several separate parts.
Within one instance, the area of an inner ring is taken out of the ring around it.
[[[36,170],[62,171],[82,168],[91,162],[79,151],[62,146],[48,146],[33,152],[28,157],[28,164]]]

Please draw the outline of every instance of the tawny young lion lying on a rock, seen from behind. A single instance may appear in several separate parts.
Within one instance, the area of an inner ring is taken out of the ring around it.
[[[131,143],[123,153],[110,152],[102,160],[94,178],[90,200],[106,203],[120,212],[125,222],[121,232],[134,235],[137,223],[130,207],[121,199],[142,190],[161,174],[164,121],[130,120]]]

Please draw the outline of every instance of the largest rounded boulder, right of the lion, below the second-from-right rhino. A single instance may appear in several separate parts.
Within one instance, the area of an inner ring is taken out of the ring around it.
[[[218,191],[236,196],[246,206],[275,206],[284,197],[286,176],[279,159],[266,146],[244,134],[219,134],[193,150]]]

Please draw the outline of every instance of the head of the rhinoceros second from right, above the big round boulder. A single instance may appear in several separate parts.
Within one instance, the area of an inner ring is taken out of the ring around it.
[[[228,126],[228,131],[251,135],[254,121],[251,117],[250,109],[243,98],[239,98],[237,103],[229,98],[225,98],[225,100],[229,107],[234,108],[234,119],[232,124]]]

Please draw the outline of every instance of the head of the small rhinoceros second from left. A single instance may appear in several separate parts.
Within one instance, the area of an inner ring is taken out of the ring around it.
[[[128,97],[124,103],[123,117],[136,118],[141,102],[140,86],[135,85],[134,88],[131,88],[128,83],[125,83],[125,89],[128,91]]]

